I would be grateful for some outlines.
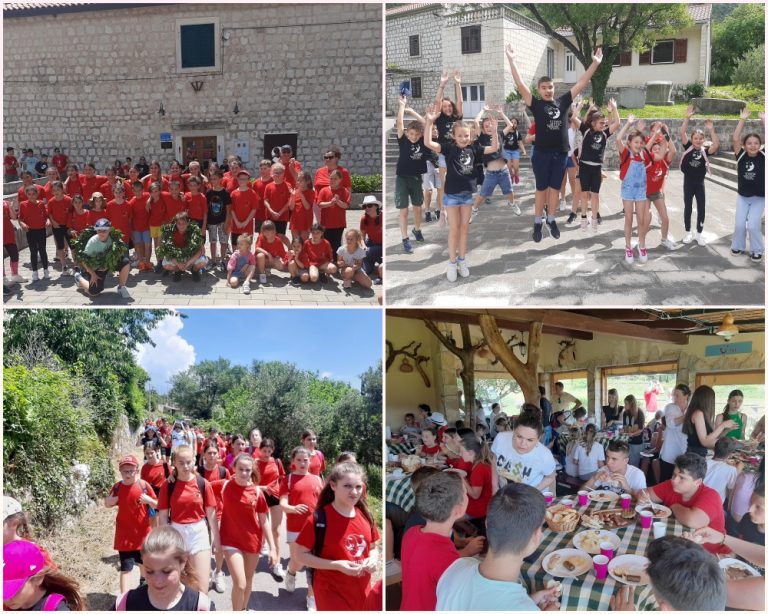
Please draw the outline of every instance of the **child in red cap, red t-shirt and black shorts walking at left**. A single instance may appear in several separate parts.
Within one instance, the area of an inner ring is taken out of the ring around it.
[[[118,508],[114,548],[120,556],[120,592],[124,593],[138,586],[138,583],[130,586],[134,565],[138,565],[139,573],[144,575],[139,550],[151,530],[149,517],[150,513],[154,515],[157,500],[152,486],[136,479],[139,463],[135,456],[124,456],[118,467],[123,479],[112,487],[104,505]],[[153,511],[149,512],[150,509]]]

